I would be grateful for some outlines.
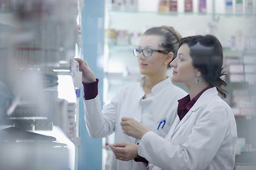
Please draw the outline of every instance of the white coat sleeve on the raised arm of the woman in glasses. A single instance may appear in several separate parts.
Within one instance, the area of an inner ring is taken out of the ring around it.
[[[100,97],[85,100],[85,123],[90,137],[107,137],[114,132],[114,126],[117,120],[117,104],[119,96],[117,95],[111,103],[101,107]]]

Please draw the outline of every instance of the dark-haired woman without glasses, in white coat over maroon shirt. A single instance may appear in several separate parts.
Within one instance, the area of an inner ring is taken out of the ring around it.
[[[140,140],[139,145],[127,148],[133,153],[136,150],[135,157],[144,157],[154,170],[232,170],[237,130],[230,106],[220,98],[226,96],[221,88],[226,84],[220,78],[224,75],[220,42],[213,35],[182,38],[171,66],[171,79],[182,82],[189,91],[178,100],[178,116],[171,130],[163,138],[132,118],[122,118],[123,132]],[[116,157],[129,153],[114,146]]]

